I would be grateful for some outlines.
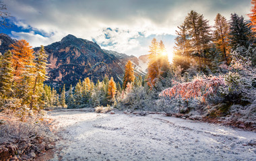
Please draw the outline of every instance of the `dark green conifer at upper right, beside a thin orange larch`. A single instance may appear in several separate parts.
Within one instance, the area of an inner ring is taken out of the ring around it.
[[[230,19],[230,46],[232,50],[240,46],[249,48],[255,42],[254,34],[251,32],[251,26],[244,20],[244,17],[239,17],[236,13],[231,14]]]

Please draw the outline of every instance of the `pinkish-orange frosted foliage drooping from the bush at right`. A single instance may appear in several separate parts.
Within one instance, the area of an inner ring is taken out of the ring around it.
[[[201,98],[205,102],[207,96],[215,94],[218,88],[225,85],[221,76],[210,76],[208,78],[195,78],[189,83],[178,83],[172,88],[165,89],[160,93],[161,97],[181,97],[184,100],[190,98]]]

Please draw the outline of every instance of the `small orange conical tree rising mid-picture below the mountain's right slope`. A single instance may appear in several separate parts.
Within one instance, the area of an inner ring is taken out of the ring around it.
[[[134,81],[134,67],[130,60],[125,65],[125,76],[123,76],[123,89],[127,87],[127,83],[133,83]]]

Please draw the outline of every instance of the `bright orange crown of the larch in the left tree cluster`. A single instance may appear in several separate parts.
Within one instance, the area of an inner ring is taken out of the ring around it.
[[[34,59],[34,50],[26,40],[18,40],[14,44],[11,44],[10,47],[12,48],[11,53],[13,54],[13,75],[18,77],[22,72],[24,72],[24,68],[26,66],[33,65],[32,60]]]

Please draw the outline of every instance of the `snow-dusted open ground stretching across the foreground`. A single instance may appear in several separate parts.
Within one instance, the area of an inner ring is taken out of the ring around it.
[[[256,160],[256,133],[164,115],[51,111],[53,160]]]

